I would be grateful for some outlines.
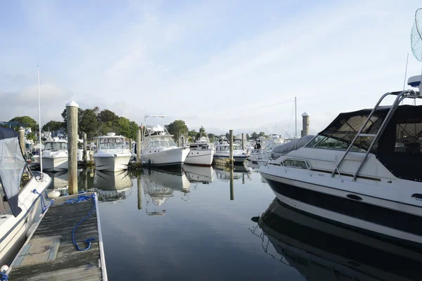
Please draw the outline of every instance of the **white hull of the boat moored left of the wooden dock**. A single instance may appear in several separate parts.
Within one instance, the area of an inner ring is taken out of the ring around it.
[[[17,217],[6,215],[0,218],[0,264],[9,264],[26,241],[27,230],[33,223],[39,221],[41,214],[41,204],[39,195],[32,193],[36,189],[41,193],[51,183],[51,178],[44,174],[43,182],[35,181],[33,178],[30,183],[20,193],[19,206],[22,211]],[[22,199],[21,199],[22,198]],[[48,204],[48,203],[47,203]],[[5,221],[1,221],[5,220]]]

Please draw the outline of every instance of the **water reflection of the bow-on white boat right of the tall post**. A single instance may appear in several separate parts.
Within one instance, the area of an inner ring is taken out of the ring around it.
[[[132,180],[129,171],[95,171],[94,188],[99,201],[126,199],[127,192],[132,194]]]

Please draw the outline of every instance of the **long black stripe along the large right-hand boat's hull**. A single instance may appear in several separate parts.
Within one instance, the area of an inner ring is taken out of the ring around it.
[[[265,179],[271,189],[275,192],[302,203],[328,211],[335,211],[338,214],[359,218],[363,221],[369,221],[381,226],[387,226],[388,228],[395,228],[406,233],[422,235],[421,216],[406,214],[400,211],[367,204],[362,201],[328,195],[314,190],[298,188],[269,178]]]

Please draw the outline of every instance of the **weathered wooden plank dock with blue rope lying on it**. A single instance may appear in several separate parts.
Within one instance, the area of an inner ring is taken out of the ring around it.
[[[92,196],[94,192],[79,195]],[[98,201],[74,202],[79,195],[58,197],[44,214],[37,229],[28,237],[8,270],[8,280],[107,280],[106,261],[101,237]],[[95,206],[95,208],[94,208]],[[94,211],[93,211],[94,209]],[[94,238],[87,251],[78,251],[72,243],[72,229],[86,218],[75,230],[75,242],[85,249],[85,240]]]

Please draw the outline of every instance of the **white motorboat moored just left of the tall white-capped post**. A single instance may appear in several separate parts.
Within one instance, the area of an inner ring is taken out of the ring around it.
[[[42,165],[46,171],[65,171],[68,165],[68,141],[53,138],[44,142],[42,152]]]

